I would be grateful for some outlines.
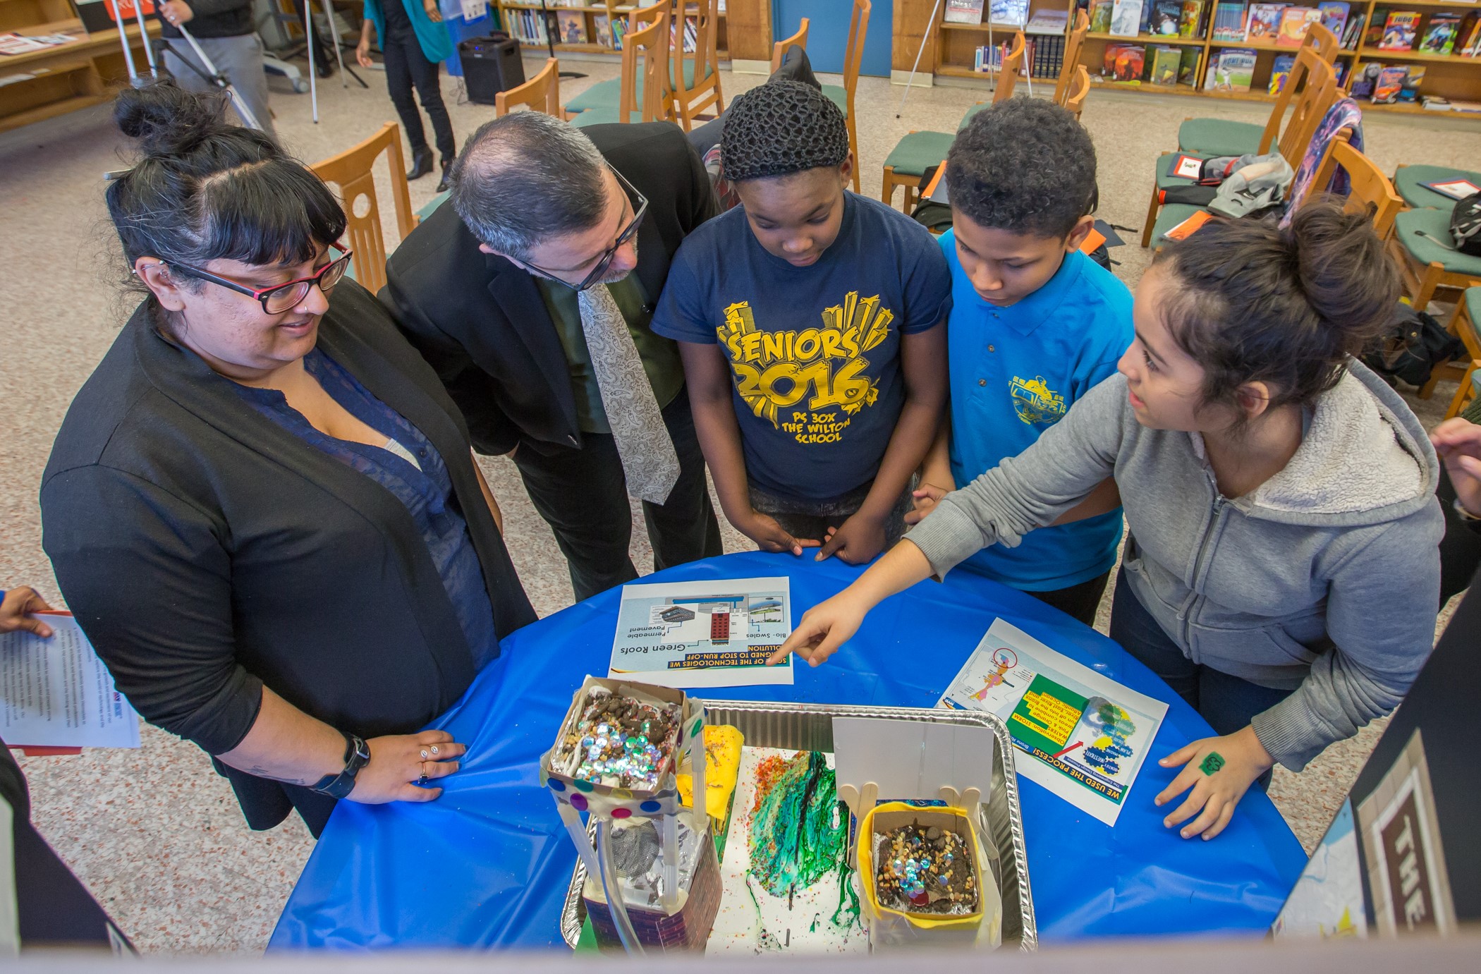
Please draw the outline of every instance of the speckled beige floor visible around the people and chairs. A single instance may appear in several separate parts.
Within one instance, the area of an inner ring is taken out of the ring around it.
[[[527,62],[527,71],[538,67]],[[569,61],[563,67],[589,74],[563,81],[563,101],[616,77],[610,62]],[[274,81],[278,132],[301,158],[323,158],[395,117],[384,75],[363,74],[370,90],[347,90],[338,78],[321,84],[317,126],[308,96],[292,95]],[[723,73],[727,96],[760,80]],[[459,139],[490,117],[487,107],[453,104],[453,80],[444,77],[443,87]],[[952,130],[961,112],[985,98],[982,89],[915,89],[903,118],[896,118],[900,95],[900,87],[883,78],[859,84],[859,150],[869,195],[877,195],[883,160],[905,132]],[[1154,157],[1174,145],[1183,117],[1214,112],[1262,121],[1266,108],[1091,92],[1084,123],[1100,157],[1100,215],[1140,228]],[[118,166],[121,142],[105,108],[0,135],[0,266],[6,269],[0,275],[0,585],[30,582],[47,597],[55,597],[56,588],[40,546],[36,491],[41,468],[68,403],[133,306],[133,299],[117,290],[123,274],[102,207],[101,175]],[[1377,115],[1367,121],[1367,144],[1368,154],[1389,172],[1398,163],[1475,167],[1481,126]],[[412,184],[413,206],[425,203],[432,188],[431,178]],[[1120,261],[1117,272],[1134,286],[1146,253],[1127,246],[1112,256]],[[1451,391],[1441,385],[1431,401],[1416,401],[1428,423],[1438,420]],[[548,614],[569,605],[564,564],[512,465],[501,459],[486,469],[536,608]],[[727,525],[726,549],[739,551],[746,546],[742,542]],[[649,562],[646,543],[643,531],[635,531],[640,568]],[[1325,829],[1377,733],[1374,725],[1331,748],[1303,774],[1277,771],[1271,795],[1308,848]],[[33,758],[24,759],[24,767],[39,827],[142,950],[264,947],[311,848],[296,819],[268,833],[249,832],[204,755],[153,728],[145,728],[139,750]]]

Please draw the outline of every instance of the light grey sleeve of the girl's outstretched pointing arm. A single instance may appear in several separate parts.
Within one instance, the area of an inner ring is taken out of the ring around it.
[[[1111,475],[1127,409],[1126,379],[1111,376],[1034,446],[946,494],[906,537],[939,576],[989,545],[1017,546]]]

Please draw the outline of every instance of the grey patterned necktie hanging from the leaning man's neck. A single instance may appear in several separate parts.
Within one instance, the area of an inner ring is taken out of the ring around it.
[[[638,346],[606,284],[588,287],[578,295],[578,300],[581,330],[586,335],[591,369],[597,375],[601,407],[607,413],[618,456],[622,457],[628,493],[663,503],[678,483],[678,454],[643,370]]]

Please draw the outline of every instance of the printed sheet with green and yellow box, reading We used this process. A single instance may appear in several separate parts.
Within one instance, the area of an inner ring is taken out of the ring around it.
[[[1001,619],[937,706],[997,713],[1019,774],[1112,826],[1167,713]]]

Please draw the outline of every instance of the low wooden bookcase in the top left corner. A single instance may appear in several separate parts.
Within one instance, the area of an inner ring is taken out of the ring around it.
[[[127,81],[117,30],[87,34],[67,0],[0,0],[0,33],[71,33],[76,40],[43,50],[0,55],[0,132],[50,118],[113,98]],[[150,21],[150,31],[158,24]],[[138,24],[127,25],[135,64],[145,67]]]

